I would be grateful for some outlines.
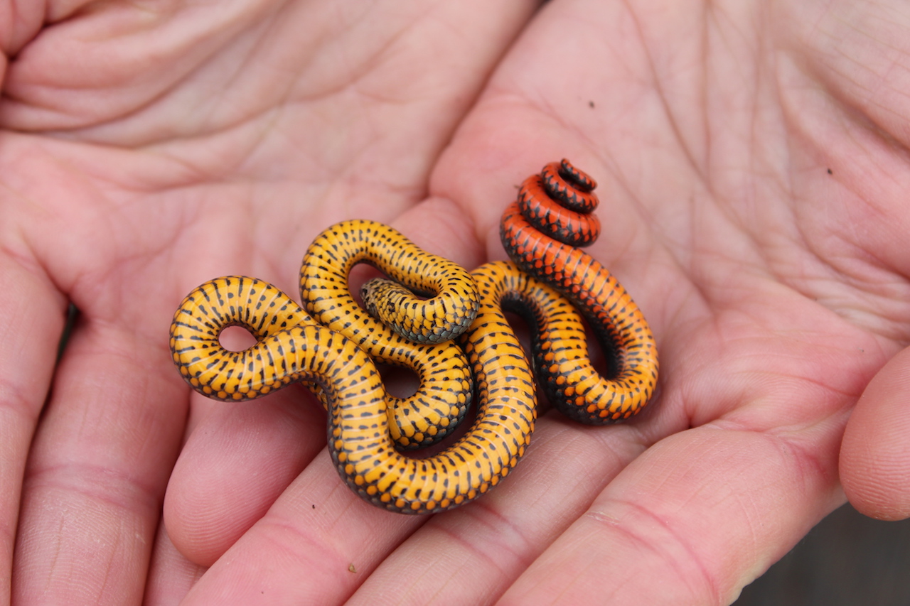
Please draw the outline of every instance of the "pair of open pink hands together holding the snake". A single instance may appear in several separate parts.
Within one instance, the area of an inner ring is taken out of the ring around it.
[[[901,10],[3,0],[0,603],[725,604],[842,481],[910,515]],[[561,157],[661,348],[639,418],[551,411],[499,489],[413,518],[341,484],[303,389],[179,379],[197,284],[294,294],[351,217],[502,258]]]

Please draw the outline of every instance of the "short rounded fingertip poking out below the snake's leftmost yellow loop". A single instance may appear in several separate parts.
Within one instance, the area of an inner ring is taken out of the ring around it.
[[[325,413],[305,389],[217,403],[187,439],[167,485],[170,540],[190,561],[210,566],[325,444]]]

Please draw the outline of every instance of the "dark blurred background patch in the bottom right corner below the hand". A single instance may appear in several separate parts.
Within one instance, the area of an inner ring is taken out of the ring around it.
[[[834,510],[735,606],[910,606],[910,520]]]

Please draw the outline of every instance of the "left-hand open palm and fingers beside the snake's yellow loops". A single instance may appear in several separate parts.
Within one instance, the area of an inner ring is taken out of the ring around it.
[[[201,569],[157,529],[197,426],[231,441],[222,473],[256,480],[208,495],[232,508],[212,524],[220,542],[176,524],[187,552],[205,561],[198,543],[217,550],[268,510],[324,445],[324,415],[302,389],[247,409],[190,399],[167,350],[177,303],[241,272],[293,294],[321,229],[394,222],[424,199],[532,8],[0,4],[0,603],[186,593]],[[457,225],[416,226],[437,252],[482,259]],[[67,301],[81,314],[55,368]]]

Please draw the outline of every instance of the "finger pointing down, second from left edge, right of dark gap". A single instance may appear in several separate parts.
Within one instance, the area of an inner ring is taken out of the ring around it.
[[[186,418],[161,341],[77,325],[25,474],[14,601],[141,601]]]

